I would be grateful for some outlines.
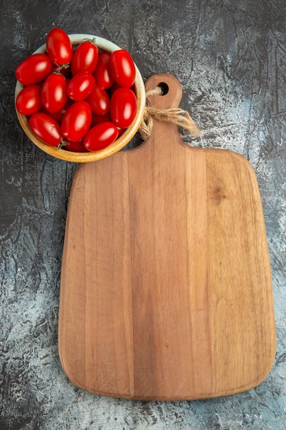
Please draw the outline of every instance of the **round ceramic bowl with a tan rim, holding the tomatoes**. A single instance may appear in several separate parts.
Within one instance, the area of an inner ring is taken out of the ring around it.
[[[79,45],[84,39],[93,39],[95,38],[95,44],[99,48],[99,52],[106,51],[106,52],[113,52],[117,49],[121,49],[119,46],[115,45],[115,43],[112,43],[104,38],[93,36],[92,34],[69,34],[69,38],[71,39],[71,43],[73,45]],[[46,52],[46,45],[42,45],[39,47],[34,54],[38,52]],[[97,161],[99,159],[103,159],[105,157],[109,157],[112,154],[115,154],[115,152],[118,152],[121,150],[124,146],[130,142],[132,137],[136,134],[136,132],[139,129],[139,126],[141,124],[141,120],[143,118],[143,112],[145,108],[145,88],[143,79],[141,76],[141,73],[139,72],[138,67],[136,67],[136,78],[134,82],[134,88],[137,98],[137,111],[136,116],[132,122],[132,124],[126,128],[126,131],[117,138],[117,140],[107,146],[106,148],[102,150],[98,150],[95,152],[71,152],[69,150],[65,149],[58,149],[53,146],[49,146],[42,142],[38,137],[32,133],[31,129],[29,128],[28,119],[24,115],[21,115],[18,111],[16,111],[16,114],[19,118],[19,122],[23,128],[23,131],[25,131],[27,137],[29,137],[32,142],[38,148],[41,150],[47,152],[47,154],[52,155],[53,157],[56,157],[58,159],[62,159],[65,161],[72,161],[75,163],[87,163],[89,161]],[[19,94],[19,92],[23,89],[22,85],[19,81],[16,82],[16,89],[15,89],[15,100],[16,96]]]

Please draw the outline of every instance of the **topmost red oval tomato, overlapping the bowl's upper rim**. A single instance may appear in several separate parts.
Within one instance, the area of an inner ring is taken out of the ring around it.
[[[47,54],[54,65],[62,66],[71,63],[73,46],[68,34],[61,28],[53,28],[48,33],[46,48]]]

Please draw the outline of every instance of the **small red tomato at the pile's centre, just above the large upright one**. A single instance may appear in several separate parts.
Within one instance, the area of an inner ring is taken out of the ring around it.
[[[93,88],[95,87],[95,78],[88,71],[79,71],[73,78],[69,81],[67,86],[67,95],[71,100],[75,102],[80,102],[84,100],[91,94]]]

